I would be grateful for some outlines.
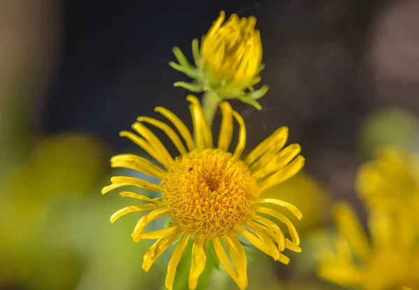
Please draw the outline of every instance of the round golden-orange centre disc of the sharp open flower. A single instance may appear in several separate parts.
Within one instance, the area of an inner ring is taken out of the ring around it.
[[[161,189],[172,223],[208,239],[237,231],[253,215],[259,197],[249,168],[218,149],[178,157]]]

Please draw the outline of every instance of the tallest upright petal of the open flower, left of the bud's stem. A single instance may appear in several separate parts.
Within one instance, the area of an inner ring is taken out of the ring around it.
[[[202,134],[204,148],[212,148],[211,126],[208,124],[207,118],[205,117],[203,107],[200,105],[200,102],[196,96],[189,95],[186,97],[186,100],[193,104],[192,108],[191,106],[189,106],[189,108],[191,108],[193,124],[196,124],[196,129],[198,129],[198,131]],[[195,131],[195,133],[198,143],[198,132]]]

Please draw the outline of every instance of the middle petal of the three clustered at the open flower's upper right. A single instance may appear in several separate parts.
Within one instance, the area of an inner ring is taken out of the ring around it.
[[[298,154],[301,152],[301,146],[299,144],[291,144],[281,150],[274,158],[270,159],[265,166],[254,171],[252,175],[256,178],[263,178],[271,173],[279,171],[289,164]]]

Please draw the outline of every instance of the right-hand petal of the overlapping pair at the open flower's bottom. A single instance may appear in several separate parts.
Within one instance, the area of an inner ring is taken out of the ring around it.
[[[247,261],[244,248],[240,243],[240,240],[234,234],[226,236],[224,240],[226,241],[227,250],[230,253],[231,260],[237,269],[240,283],[246,285],[247,287]]]

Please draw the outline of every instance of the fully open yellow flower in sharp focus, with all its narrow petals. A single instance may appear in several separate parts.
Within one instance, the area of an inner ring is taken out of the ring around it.
[[[260,192],[274,186],[300,171],[304,157],[300,156],[297,144],[284,147],[288,129],[282,127],[265,139],[246,158],[242,152],[246,145],[246,127],[242,117],[232,110],[229,103],[220,105],[223,115],[218,147],[213,147],[210,125],[203,114],[203,108],[195,96],[188,96],[193,119],[193,133],[185,124],[166,108],[157,107],[156,112],[166,117],[179,131],[184,142],[171,126],[150,117],[138,117],[133,129],[140,135],[123,131],[127,137],[142,147],[161,166],[133,154],[112,157],[112,167],[131,168],[147,175],[159,177],[154,184],[134,177],[112,177],[112,184],[104,187],[102,194],[133,185],[161,192],[161,198],[148,198],[124,191],[120,195],[147,201],[118,210],[110,218],[115,222],[129,212],[150,211],[135,226],[133,240],[156,239],[144,256],[142,268],[148,271],[157,257],[170,245],[177,244],[168,264],[166,287],[172,289],[177,264],[186,244],[193,240],[192,263],[189,274],[189,289],[196,289],[198,277],[205,268],[206,245],[214,246],[223,268],[235,280],[240,289],[247,287],[247,261],[239,236],[275,260],[288,263],[285,249],[300,252],[300,238],[293,223],[276,209],[265,205],[273,204],[286,208],[298,219],[300,210],[294,205],[274,198],[259,198]],[[233,138],[233,119],[239,125],[237,146],[228,152]],[[161,140],[143,124],[161,129],[175,145],[179,155],[173,158]],[[186,147],[185,147],[186,145]],[[150,222],[160,217],[170,217],[167,229],[145,232]],[[286,224],[291,240],[284,238],[279,226],[267,217],[273,217]],[[227,250],[227,252],[226,252]],[[230,257],[229,257],[230,256]],[[231,263],[233,262],[233,264]]]

